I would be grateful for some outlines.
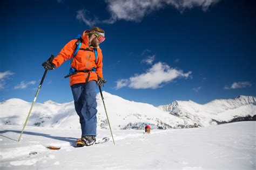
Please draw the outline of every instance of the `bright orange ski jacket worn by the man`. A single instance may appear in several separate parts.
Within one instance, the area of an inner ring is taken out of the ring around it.
[[[89,48],[89,36],[85,35],[85,31],[83,32],[82,38],[82,45],[80,48]],[[52,62],[55,64],[56,68],[62,65],[62,63],[68,59],[71,59],[75,49],[76,49],[76,41],[77,39],[73,39],[66,44],[60,53],[56,56]],[[75,68],[76,70],[90,70],[93,67],[96,68],[96,72],[91,72],[88,81],[98,81],[98,76],[103,78],[102,74],[102,49],[97,48],[98,56],[97,62],[95,63],[95,52],[93,52],[93,48],[90,47],[92,51],[84,51],[79,50],[71,63],[71,67]],[[77,83],[85,83],[85,79],[88,73],[77,73],[75,75],[70,76],[70,86]],[[98,75],[98,76],[97,76]]]

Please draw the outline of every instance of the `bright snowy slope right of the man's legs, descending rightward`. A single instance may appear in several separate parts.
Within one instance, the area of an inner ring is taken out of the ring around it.
[[[170,115],[151,104],[124,100],[106,92],[103,95],[111,125],[116,128],[127,129],[134,126],[134,128],[144,129],[145,125],[143,124],[152,124],[152,128],[169,125],[177,128],[180,124],[184,124],[183,119]],[[97,102],[98,118],[106,122],[105,110],[100,95],[98,95]],[[104,127],[107,127],[107,125]]]

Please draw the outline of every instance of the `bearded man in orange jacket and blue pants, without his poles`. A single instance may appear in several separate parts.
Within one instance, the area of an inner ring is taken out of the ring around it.
[[[77,139],[77,146],[90,146],[95,144],[97,134],[96,87],[106,82],[102,73],[102,50],[99,48],[99,44],[105,40],[105,32],[100,27],[93,27],[84,31],[79,40],[69,41],[56,58],[45,61],[42,66],[51,70],[72,59],[71,68],[75,72],[69,75],[70,86],[82,129],[82,137]],[[74,56],[78,42],[80,48]]]

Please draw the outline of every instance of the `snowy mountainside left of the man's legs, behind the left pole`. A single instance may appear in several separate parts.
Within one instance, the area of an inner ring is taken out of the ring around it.
[[[1,124],[23,125],[30,107],[31,103],[18,98],[12,98],[0,103]],[[28,125],[79,128],[80,124],[77,120],[78,117],[73,102],[59,104],[47,101],[35,103]]]

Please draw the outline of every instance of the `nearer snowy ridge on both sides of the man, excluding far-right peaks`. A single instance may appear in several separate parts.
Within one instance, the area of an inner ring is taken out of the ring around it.
[[[169,127],[178,128],[184,125],[181,118],[170,115],[151,104],[124,100],[103,91],[104,101],[113,129],[144,128],[144,124],[151,124],[153,129]],[[107,129],[106,114],[100,95],[98,103],[98,129]],[[28,116],[31,103],[12,98],[0,103],[0,124],[23,125]],[[79,128],[79,118],[73,102],[55,103],[47,101],[35,103],[28,122],[29,126],[44,126],[54,128]]]

